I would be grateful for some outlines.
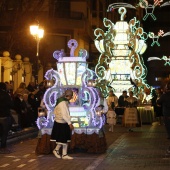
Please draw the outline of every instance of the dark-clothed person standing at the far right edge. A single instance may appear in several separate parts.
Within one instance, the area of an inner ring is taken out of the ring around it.
[[[157,103],[162,105],[164,124],[168,134],[167,138],[170,139],[170,81],[165,87],[165,93],[160,96]],[[170,154],[170,147],[167,152]]]

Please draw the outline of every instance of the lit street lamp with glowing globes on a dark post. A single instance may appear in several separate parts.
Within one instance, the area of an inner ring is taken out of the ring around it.
[[[37,84],[38,83],[38,70],[39,70],[39,45],[40,45],[40,40],[44,36],[44,30],[39,27],[39,24],[31,25],[30,33],[37,42],[37,53],[36,53],[37,63],[36,63],[36,70],[35,70],[35,83]]]

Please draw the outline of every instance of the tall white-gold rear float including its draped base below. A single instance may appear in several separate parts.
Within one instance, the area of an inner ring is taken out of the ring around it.
[[[142,57],[147,49],[148,34],[144,32],[136,17],[129,22],[124,21],[126,8],[135,9],[127,3],[110,4],[107,11],[115,12],[118,9],[120,21],[114,24],[104,18],[106,30],[97,28],[94,31],[95,46],[100,52],[95,67],[96,86],[105,96],[110,88],[118,97],[123,90],[133,91],[138,99],[138,107],[118,107],[116,113],[123,116],[123,125],[142,126],[142,123],[151,123],[154,119],[153,107],[149,103],[152,87],[146,83],[147,68]]]

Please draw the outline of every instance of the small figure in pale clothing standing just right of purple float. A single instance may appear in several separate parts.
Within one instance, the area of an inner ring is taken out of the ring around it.
[[[116,113],[114,110],[109,110],[106,116],[107,123],[110,126],[109,131],[113,132],[113,127],[116,125]]]

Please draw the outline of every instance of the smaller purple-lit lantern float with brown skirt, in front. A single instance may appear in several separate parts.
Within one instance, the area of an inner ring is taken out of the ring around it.
[[[40,109],[37,125],[42,133],[51,134],[54,114],[53,110],[57,98],[66,89],[73,91],[69,109],[74,131],[71,140],[71,149],[77,145],[88,152],[103,152],[106,149],[105,137],[102,127],[105,124],[105,116],[96,108],[100,105],[98,91],[90,80],[96,79],[94,71],[87,68],[87,51],[79,50],[79,56],[74,56],[78,43],[71,39],[68,42],[70,56],[66,57],[63,51],[53,53],[57,62],[57,71],[48,70],[45,78],[53,86],[49,87],[44,95],[44,103],[47,108],[47,116]]]

